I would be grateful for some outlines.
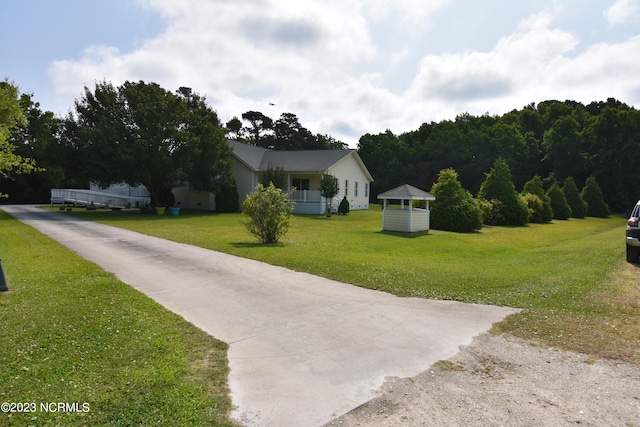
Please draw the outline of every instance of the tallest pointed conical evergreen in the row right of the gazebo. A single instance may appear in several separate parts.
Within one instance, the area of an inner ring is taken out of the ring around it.
[[[511,180],[511,169],[503,159],[493,164],[491,172],[480,186],[478,198],[499,200],[502,204],[498,215],[493,216],[495,225],[524,225],[529,222],[529,209],[520,199]],[[494,207],[498,205],[494,204]]]

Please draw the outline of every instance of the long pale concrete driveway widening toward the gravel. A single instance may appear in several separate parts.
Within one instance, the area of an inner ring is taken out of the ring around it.
[[[517,311],[398,298],[33,206],[2,209],[227,342],[231,415],[249,426],[323,425]]]

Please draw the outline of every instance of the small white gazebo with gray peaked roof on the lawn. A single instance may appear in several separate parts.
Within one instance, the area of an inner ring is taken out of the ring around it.
[[[393,190],[378,194],[382,205],[382,230],[415,233],[429,231],[430,214],[429,201],[436,197],[409,184],[401,185]],[[389,200],[400,200],[400,205],[390,205]],[[414,208],[414,200],[426,201],[424,209]],[[405,205],[405,202],[408,202]]]

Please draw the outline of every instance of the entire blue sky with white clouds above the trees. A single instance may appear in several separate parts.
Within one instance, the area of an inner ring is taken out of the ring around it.
[[[640,0],[9,0],[0,78],[43,110],[96,82],[206,97],[225,123],[293,113],[355,148],[457,115],[640,107]]]

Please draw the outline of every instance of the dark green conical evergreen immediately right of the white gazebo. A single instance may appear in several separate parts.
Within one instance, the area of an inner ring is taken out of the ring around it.
[[[458,181],[458,173],[444,169],[431,187],[431,227],[438,230],[468,232],[482,228],[482,210]]]

